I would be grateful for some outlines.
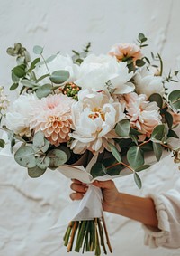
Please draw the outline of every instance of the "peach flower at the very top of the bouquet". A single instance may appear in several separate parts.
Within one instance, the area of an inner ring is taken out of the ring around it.
[[[135,43],[117,43],[112,46],[109,54],[115,56],[118,61],[123,61],[126,58],[132,58],[135,62],[142,58],[140,48]]]

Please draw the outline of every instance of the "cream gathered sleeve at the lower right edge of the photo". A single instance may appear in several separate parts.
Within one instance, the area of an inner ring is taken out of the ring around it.
[[[174,189],[149,196],[156,206],[159,231],[143,225],[145,244],[151,248],[180,248],[180,179]]]

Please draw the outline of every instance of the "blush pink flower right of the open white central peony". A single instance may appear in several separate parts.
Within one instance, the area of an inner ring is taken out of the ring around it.
[[[145,94],[132,92],[124,96],[127,118],[132,128],[138,129],[143,135],[139,139],[150,137],[153,129],[161,124],[161,115],[156,102],[149,102]]]

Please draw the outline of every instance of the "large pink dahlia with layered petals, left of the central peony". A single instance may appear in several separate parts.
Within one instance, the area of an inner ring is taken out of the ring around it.
[[[31,128],[35,132],[41,130],[52,145],[67,142],[72,124],[71,106],[75,101],[63,94],[42,98],[32,113]]]

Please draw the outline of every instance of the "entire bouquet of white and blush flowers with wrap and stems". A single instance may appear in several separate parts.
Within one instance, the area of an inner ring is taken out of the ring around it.
[[[46,58],[36,45],[32,62],[21,43],[8,48],[17,61],[10,90],[19,90],[19,96],[10,103],[0,90],[2,129],[15,161],[33,178],[57,169],[91,184],[129,170],[140,188],[149,152],[159,161],[163,150],[170,150],[179,161],[179,149],[169,140],[178,138],[180,90],[166,92],[167,82],[178,81],[178,71],[165,76],[161,56],[143,54],[148,46],[143,33],[136,44],[115,44],[107,54],[94,55],[90,46]],[[6,143],[0,139],[1,147]],[[101,190],[89,185],[67,227],[67,251],[76,241],[75,251],[100,255],[103,247],[106,254],[105,237],[112,252],[102,201]]]

